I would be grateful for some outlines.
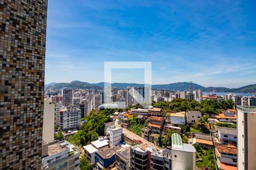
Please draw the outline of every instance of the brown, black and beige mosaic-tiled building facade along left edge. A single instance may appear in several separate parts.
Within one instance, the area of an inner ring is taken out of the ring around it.
[[[41,169],[47,0],[0,0],[0,169]]]

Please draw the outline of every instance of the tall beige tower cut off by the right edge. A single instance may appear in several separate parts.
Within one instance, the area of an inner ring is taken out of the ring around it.
[[[256,108],[237,106],[237,167],[256,169]]]

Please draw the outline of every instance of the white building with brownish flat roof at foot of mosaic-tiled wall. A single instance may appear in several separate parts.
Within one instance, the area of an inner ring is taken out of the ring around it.
[[[42,142],[42,169],[79,170],[80,152],[64,141]]]

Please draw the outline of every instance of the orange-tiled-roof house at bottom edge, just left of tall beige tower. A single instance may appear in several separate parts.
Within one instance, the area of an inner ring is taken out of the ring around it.
[[[237,169],[237,147],[233,145],[215,145],[217,164],[220,169]]]

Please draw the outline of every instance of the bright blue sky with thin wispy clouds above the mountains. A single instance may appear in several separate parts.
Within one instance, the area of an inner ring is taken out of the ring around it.
[[[151,61],[152,83],[256,83],[256,1],[48,1],[46,83],[104,81],[105,61]],[[114,70],[141,83],[143,70]]]

